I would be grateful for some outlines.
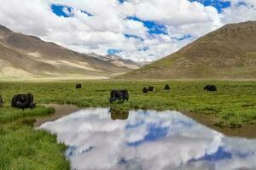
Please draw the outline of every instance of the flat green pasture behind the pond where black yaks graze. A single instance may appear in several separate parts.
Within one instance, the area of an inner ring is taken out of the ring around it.
[[[166,83],[172,90],[165,91]],[[203,91],[206,84],[215,84],[217,93]],[[75,82],[0,82],[5,106],[0,109],[0,122],[14,121],[22,116],[37,116],[52,112],[39,106],[36,110],[19,111],[10,108],[14,94],[30,92],[38,105],[74,104],[79,107],[111,106],[108,103],[111,89],[127,88],[129,102],[125,109],[155,109],[193,111],[214,114],[220,122],[256,123],[256,82],[83,82],[75,89]],[[156,92],[143,94],[145,86],[154,85]]]

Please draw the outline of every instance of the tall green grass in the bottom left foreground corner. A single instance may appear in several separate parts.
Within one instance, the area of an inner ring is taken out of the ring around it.
[[[0,134],[0,169],[69,169],[66,146],[56,144],[55,136],[20,123],[4,125]]]

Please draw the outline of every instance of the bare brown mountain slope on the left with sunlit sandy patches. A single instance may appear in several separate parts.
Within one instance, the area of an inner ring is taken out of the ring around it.
[[[108,78],[133,69],[137,63],[108,56],[79,54],[53,42],[26,36],[0,25],[0,78]]]

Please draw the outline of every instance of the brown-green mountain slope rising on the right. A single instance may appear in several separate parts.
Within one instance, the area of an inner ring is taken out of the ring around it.
[[[120,78],[254,79],[256,21],[223,26],[176,53]]]

